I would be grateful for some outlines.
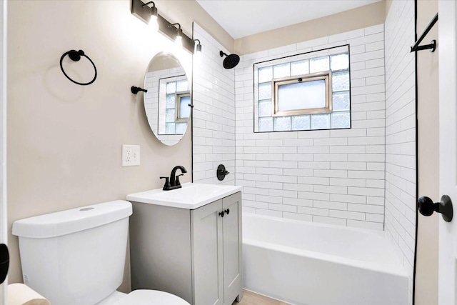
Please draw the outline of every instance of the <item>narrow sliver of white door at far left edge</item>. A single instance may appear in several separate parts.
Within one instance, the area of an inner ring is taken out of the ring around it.
[[[6,1],[0,2],[0,305],[6,304]]]

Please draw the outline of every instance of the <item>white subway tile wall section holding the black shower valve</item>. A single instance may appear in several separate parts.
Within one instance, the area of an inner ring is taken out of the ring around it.
[[[194,182],[235,184],[235,71],[224,69],[219,51],[229,53],[198,24],[194,39],[202,52],[194,58],[193,171]],[[216,169],[230,172],[219,181]]]

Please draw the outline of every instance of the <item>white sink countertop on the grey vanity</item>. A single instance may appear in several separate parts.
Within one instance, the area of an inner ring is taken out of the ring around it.
[[[127,200],[181,209],[198,209],[238,191],[241,191],[241,186],[186,183],[182,185],[181,189],[171,191],[153,189],[130,194],[127,195]]]

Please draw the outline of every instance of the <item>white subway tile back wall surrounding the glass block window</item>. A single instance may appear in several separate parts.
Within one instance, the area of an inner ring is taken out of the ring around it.
[[[379,24],[241,56],[236,184],[243,186],[243,211],[383,230],[383,41]],[[343,44],[351,48],[352,129],[253,132],[253,64]]]

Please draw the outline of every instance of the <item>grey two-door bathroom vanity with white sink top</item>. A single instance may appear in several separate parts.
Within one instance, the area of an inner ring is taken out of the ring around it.
[[[127,200],[132,289],[167,291],[192,305],[241,300],[241,186],[188,183]]]

